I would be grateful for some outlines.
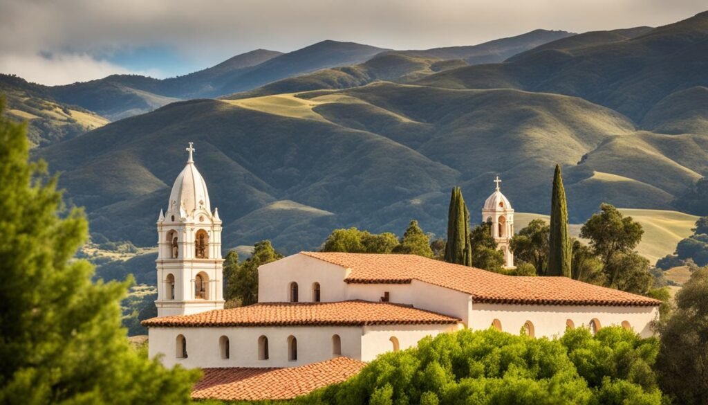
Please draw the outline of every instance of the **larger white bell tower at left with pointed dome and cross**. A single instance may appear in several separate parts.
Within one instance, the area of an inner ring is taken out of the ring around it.
[[[224,309],[221,231],[212,213],[207,184],[189,159],[177,176],[167,211],[157,220],[157,316],[188,315]]]

